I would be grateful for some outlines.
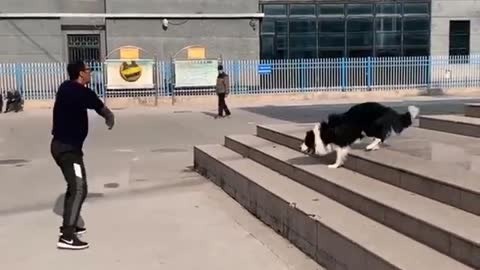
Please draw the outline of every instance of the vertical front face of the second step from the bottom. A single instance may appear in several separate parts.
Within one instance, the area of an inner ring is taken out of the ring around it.
[[[480,262],[474,259],[474,252],[480,254],[480,249],[471,242],[337,186],[228,137],[225,138],[225,146],[439,252],[480,268]],[[319,164],[319,166],[325,165]]]

